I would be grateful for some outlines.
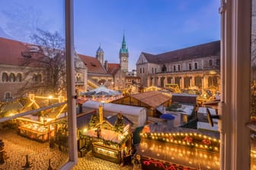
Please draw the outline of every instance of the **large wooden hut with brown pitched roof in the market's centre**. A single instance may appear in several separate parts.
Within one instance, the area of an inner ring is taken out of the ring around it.
[[[126,96],[114,100],[112,103],[145,107],[147,109],[147,115],[158,117],[164,112],[165,107],[171,104],[171,96],[158,91],[149,91]]]

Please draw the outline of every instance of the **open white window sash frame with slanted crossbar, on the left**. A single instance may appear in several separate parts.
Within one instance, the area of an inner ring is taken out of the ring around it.
[[[75,62],[74,62],[74,33],[73,33],[73,0],[65,1],[65,21],[66,21],[66,63],[67,63],[67,103],[68,103],[68,127],[69,127],[69,161],[62,165],[61,170],[72,169],[78,162],[77,153],[77,128],[76,128],[76,112],[75,112]],[[24,115],[30,115],[44,109],[50,109],[63,105],[65,102],[55,105],[49,105],[42,109],[24,112],[19,115],[13,115],[8,118],[1,118],[0,122],[8,121]]]

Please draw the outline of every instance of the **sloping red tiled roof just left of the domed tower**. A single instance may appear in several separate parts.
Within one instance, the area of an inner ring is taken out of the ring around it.
[[[101,62],[98,61],[97,58],[91,57],[88,55],[81,55],[78,54],[78,56],[82,59],[82,61],[85,63],[86,67],[88,68],[88,73],[99,73],[99,74],[106,74],[107,72],[102,67]]]

